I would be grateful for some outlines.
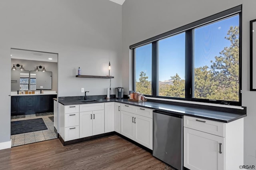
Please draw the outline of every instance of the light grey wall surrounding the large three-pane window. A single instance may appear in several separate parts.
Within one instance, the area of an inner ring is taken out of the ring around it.
[[[122,8],[122,84],[128,93],[132,80],[129,45],[184,26],[242,4],[242,105],[244,119],[244,165],[256,165],[256,92],[249,91],[249,21],[256,19],[255,0],[126,0]]]

